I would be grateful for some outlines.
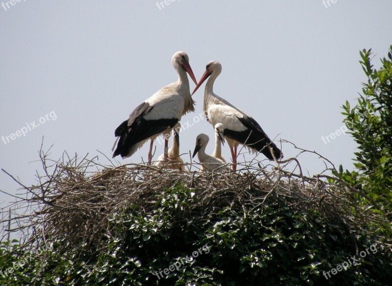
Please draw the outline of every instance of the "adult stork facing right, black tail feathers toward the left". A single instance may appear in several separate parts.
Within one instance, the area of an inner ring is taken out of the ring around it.
[[[172,57],[172,65],[178,73],[178,80],[157,91],[147,98],[129,115],[129,119],[120,124],[114,132],[117,137],[112,151],[118,141],[113,158],[121,155],[127,158],[151,139],[148,162],[151,162],[153,140],[172,127],[187,112],[195,111],[195,102],[189,91],[187,72],[197,84],[195,75],[189,65],[186,52],[177,51]],[[168,160],[168,138],[165,137],[164,160]]]

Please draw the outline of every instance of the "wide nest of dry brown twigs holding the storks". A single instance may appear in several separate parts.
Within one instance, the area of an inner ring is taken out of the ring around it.
[[[300,154],[311,152],[300,150]],[[26,187],[10,175],[22,186],[25,198],[18,197],[14,204],[15,210],[23,207],[24,213],[14,214],[11,220],[16,227],[9,231],[22,232],[25,245],[38,238],[61,236],[71,246],[87,243],[99,249],[102,239],[113,234],[109,221],[114,214],[125,212],[130,204],[147,214],[156,205],[157,194],[177,185],[195,193],[197,203],[191,206],[191,215],[224,206],[256,208],[280,197],[295,209],[315,209],[333,216],[349,229],[377,219],[373,213],[365,217],[365,212],[353,211],[358,208],[353,193],[366,195],[328,175],[333,164],[316,152],[311,153],[331,166],[316,176],[305,176],[296,158],[275,160],[273,166],[254,159],[239,164],[236,172],[208,173],[192,164],[186,165],[185,172],[138,164],[109,167],[100,165],[97,157],[70,158],[66,153],[54,162],[48,159],[48,152],[40,152],[45,174],[37,177],[37,185]],[[3,231],[7,221],[2,220]]]

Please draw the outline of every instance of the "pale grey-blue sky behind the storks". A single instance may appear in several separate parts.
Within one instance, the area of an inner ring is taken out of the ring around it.
[[[53,144],[52,159],[67,151],[107,164],[97,150],[111,157],[115,128],[177,79],[178,50],[188,53],[197,80],[208,61],[220,61],[214,92],[277,144],[291,141],[351,169],[352,138],[321,137],[343,126],[341,105],[354,104],[366,81],[359,50],[372,48],[379,65],[392,44],[391,0],[8,1],[0,0],[0,167],[26,185],[41,172],[34,161],[42,137],[44,149]],[[196,113],[181,120],[194,123],[181,133],[182,153],[193,151],[199,133],[214,136],[206,120],[194,122],[203,91],[194,95]],[[119,161],[146,160],[147,145]],[[288,144],[282,150],[285,158],[297,154]],[[158,145],[155,158],[162,152]],[[230,161],[227,145],[223,155]],[[324,167],[315,156],[299,159],[310,174]],[[0,190],[17,189],[1,172]],[[0,207],[12,201],[0,194]]]

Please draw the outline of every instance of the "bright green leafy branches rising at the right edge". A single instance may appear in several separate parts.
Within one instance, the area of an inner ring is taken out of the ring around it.
[[[355,188],[366,191],[369,197],[391,210],[392,206],[392,46],[388,58],[381,59],[381,67],[371,63],[371,49],[360,52],[361,65],[368,81],[357,105],[343,105],[344,122],[358,143],[355,152],[355,171],[341,170],[339,175]],[[365,200],[366,201],[366,200]]]

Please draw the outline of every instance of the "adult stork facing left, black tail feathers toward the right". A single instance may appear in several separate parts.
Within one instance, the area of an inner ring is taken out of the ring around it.
[[[214,82],[222,71],[222,66],[217,61],[207,63],[206,71],[201,76],[196,90],[208,78],[204,91],[203,110],[208,122],[215,126],[217,123],[224,125],[224,136],[230,147],[233,160],[233,170],[237,166],[237,147],[239,144],[245,145],[253,152],[261,152],[268,159],[273,160],[268,145],[272,147],[273,153],[277,159],[282,155],[279,148],[268,138],[267,134],[260,127],[255,119],[241,111],[227,100],[214,94]]]

